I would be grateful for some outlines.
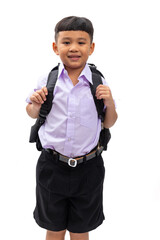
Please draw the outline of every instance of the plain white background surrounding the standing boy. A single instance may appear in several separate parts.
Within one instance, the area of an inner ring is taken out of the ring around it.
[[[90,239],[160,239],[160,7],[157,0],[0,3],[0,235],[43,240],[33,220],[39,152],[28,143],[34,123],[25,98],[58,57],[54,26],[69,15],[95,28],[95,63],[117,102],[119,119],[103,154],[106,220]]]

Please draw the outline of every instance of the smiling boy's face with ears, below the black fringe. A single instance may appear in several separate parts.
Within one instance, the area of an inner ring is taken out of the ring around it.
[[[60,56],[66,70],[82,70],[94,51],[94,43],[84,31],[62,31],[58,33],[54,52]]]

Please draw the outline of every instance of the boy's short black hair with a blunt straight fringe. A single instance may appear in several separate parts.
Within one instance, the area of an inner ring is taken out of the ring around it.
[[[92,22],[84,17],[70,16],[63,18],[55,26],[55,40],[57,41],[58,33],[61,31],[85,31],[89,34],[91,42],[93,41]]]

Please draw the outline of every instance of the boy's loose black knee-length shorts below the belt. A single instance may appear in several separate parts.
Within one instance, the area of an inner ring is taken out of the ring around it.
[[[50,231],[73,233],[97,228],[104,220],[104,175],[101,155],[73,168],[43,150],[36,169],[37,224]]]

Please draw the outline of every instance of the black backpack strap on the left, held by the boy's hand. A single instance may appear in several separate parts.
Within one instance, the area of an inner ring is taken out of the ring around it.
[[[39,117],[46,119],[46,116],[50,112],[52,108],[52,100],[53,100],[53,92],[54,92],[54,87],[57,82],[57,77],[58,77],[58,68],[59,64],[51,70],[51,72],[48,75],[48,80],[47,80],[47,89],[48,89],[48,95],[46,96],[46,101],[44,104],[42,104],[40,112],[39,112]]]

